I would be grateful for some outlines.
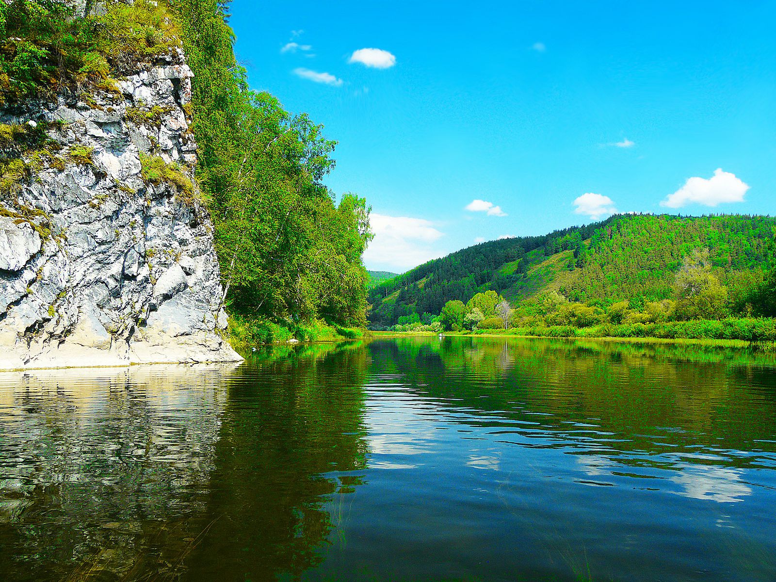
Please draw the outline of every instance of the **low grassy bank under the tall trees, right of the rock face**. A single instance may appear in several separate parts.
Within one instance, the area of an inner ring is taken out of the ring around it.
[[[354,327],[341,327],[327,324],[322,320],[312,320],[294,324],[286,321],[282,324],[260,317],[244,317],[231,314],[227,327],[227,340],[237,352],[244,352],[259,345],[286,343],[290,339],[298,341],[342,341],[364,337],[365,331]]]

